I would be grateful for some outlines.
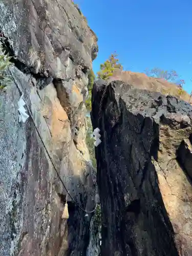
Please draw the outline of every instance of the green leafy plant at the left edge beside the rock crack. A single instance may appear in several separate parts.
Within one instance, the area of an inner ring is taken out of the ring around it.
[[[7,87],[11,81],[11,76],[6,74],[6,70],[8,67],[12,65],[10,62],[10,57],[3,49],[2,44],[0,43],[0,89],[4,89]]]

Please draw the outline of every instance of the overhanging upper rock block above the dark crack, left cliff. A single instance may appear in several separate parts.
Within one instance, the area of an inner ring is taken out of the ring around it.
[[[80,71],[92,67],[96,36],[71,0],[1,0],[0,9],[15,56],[34,73],[75,79],[78,65]]]

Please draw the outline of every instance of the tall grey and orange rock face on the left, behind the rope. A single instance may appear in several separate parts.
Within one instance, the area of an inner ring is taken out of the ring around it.
[[[93,210],[83,102],[96,37],[71,0],[0,0],[0,28],[14,56],[13,83],[0,91],[0,254],[86,255],[91,215],[68,197],[70,218],[61,219],[66,190],[45,147],[74,199]],[[22,93],[45,147],[31,117],[18,122]]]

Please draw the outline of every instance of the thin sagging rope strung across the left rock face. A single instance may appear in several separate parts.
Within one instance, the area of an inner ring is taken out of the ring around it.
[[[17,82],[16,82],[16,80],[15,80],[15,78],[14,78],[14,76],[13,76],[11,70],[9,69],[9,67],[8,67],[8,70],[9,70],[9,72],[10,72],[12,78],[13,78],[13,81],[14,81],[14,83],[15,83],[15,86],[17,87],[17,89],[18,89],[20,95],[22,95],[22,94],[23,94],[23,93],[22,93],[22,90],[19,88],[19,86],[18,86],[18,84],[17,84]],[[24,100],[25,100],[25,98],[24,98]],[[33,121],[33,124],[34,124],[34,126],[35,126],[35,130],[36,130],[36,132],[37,132],[37,134],[38,134],[38,136],[39,136],[39,138],[40,138],[40,140],[41,140],[41,143],[42,143],[42,145],[44,146],[45,151],[46,151],[46,153],[47,153],[47,155],[48,155],[48,157],[49,157],[49,160],[51,161],[51,163],[52,163],[52,165],[53,165],[53,168],[54,168],[54,170],[55,170],[55,172],[56,172],[56,174],[57,174],[57,176],[58,176],[60,182],[62,183],[63,187],[65,188],[67,194],[70,196],[70,198],[73,200],[73,202],[74,202],[82,211],[86,212],[87,214],[91,214],[92,212],[94,212],[94,211],[96,210],[96,208],[97,208],[97,203],[96,203],[96,206],[95,206],[95,208],[94,208],[93,210],[87,211],[87,210],[83,209],[83,208],[77,203],[77,201],[75,201],[75,199],[71,196],[71,194],[70,194],[69,190],[67,189],[66,185],[63,183],[63,181],[62,181],[62,179],[61,179],[61,177],[60,177],[60,175],[59,175],[59,173],[58,173],[58,171],[57,171],[57,168],[56,168],[56,166],[55,166],[55,164],[54,164],[54,162],[53,162],[53,160],[52,160],[52,158],[51,158],[51,156],[50,156],[50,154],[49,154],[49,152],[48,152],[48,150],[47,150],[47,147],[46,147],[46,145],[45,145],[45,143],[44,143],[44,141],[43,141],[43,139],[42,139],[42,137],[41,137],[41,135],[40,135],[40,133],[39,133],[39,131],[38,131],[38,129],[37,129],[37,126],[36,126],[35,121],[34,121],[34,119],[33,119],[33,115],[32,115],[32,113],[31,113],[31,111],[30,111],[30,109],[29,109],[29,107],[28,107],[28,104],[27,104],[26,101],[25,101],[25,103],[26,103],[26,107],[27,107],[29,116],[31,117],[31,119],[32,119],[32,121]]]

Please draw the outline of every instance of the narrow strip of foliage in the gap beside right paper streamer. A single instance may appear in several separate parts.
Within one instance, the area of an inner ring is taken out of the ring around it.
[[[90,158],[91,158],[92,164],[93,164],[94,168],[96,168],[95,146],[94,146],[95,140],[92,136],[93,127],[92,127],[90,117],[87,117],[87,124],[88,124],[88,130],[87,130],[87,134],[86,134],[86,144],[88,146],[88,150],[89,150],[89,153],[90,153]]]

